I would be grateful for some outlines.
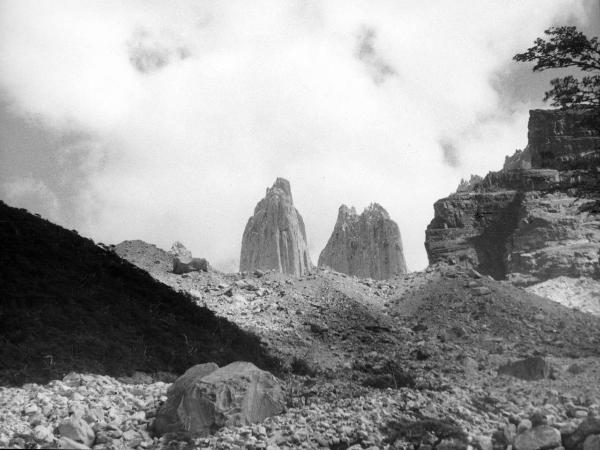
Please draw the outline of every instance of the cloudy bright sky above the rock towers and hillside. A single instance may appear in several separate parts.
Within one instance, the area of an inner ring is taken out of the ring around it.
[[[378,202],[410,270],[433,203],[527,144],[558,74],[515,53],[598,0],[0,0],[0,199],[96,242],[236,271],[265,188],[313,263],[341,204]]]

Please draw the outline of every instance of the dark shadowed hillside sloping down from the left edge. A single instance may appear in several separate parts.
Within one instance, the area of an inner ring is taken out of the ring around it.
[[[0,383],[274,361],[256,336],[90,239],[0,201]]]

